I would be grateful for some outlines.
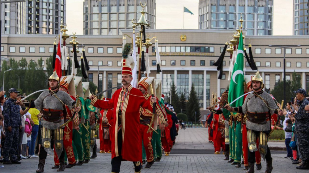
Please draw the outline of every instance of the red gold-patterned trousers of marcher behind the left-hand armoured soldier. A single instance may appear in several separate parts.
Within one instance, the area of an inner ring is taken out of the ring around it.
[[[69,128],[68,128],[69,127]],[[66,151],[66,155],[68,156],[69,164],[76,163],[74,153],[73,153],[73,147],[72,147],[72,134],[73,134],[73,122],[70,121],[67,126],[64,127],[64,135],[63,135],[63,147]],[[54,147],[55,148],[55,147]],[[59,165],[59,159],[56,153],[56,150],[54,149],[54,162],[55,165]]]

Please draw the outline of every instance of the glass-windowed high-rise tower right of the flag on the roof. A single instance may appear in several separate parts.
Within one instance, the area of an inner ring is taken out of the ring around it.
[[[240,15],[247,35],[272,35],[273,0],[200,0],[199,29],[236,29]]]

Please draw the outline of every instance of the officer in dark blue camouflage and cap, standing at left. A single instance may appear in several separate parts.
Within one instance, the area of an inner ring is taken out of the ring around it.
[[[15,152],[18,147],[19,130],[22,128],[20,107],[15,104],[19,91],[15,88],[9,90],[10,98],[3,104],[4,128],[5,128],[5,142],[3,147],[3,164],[11,165],[12,163],[20,164],[17,161]],[[10,160],[9,160],[10,156]]]

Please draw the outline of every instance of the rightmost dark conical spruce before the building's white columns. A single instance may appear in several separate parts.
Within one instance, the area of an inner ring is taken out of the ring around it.
[[[197,99],[197,93],[192,83],[189,99],[187,102],[187,115],[188,120],[192,122],[198,122],[201,119],[200,104]]]

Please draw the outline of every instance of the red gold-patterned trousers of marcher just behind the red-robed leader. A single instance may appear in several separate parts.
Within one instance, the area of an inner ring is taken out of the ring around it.
[[[143,139],[143,145],[146,151],[146,159],[147,162],[152,162],[154,160],[154,151],[151,144],[151,137],[152,137],[152,130],[147,133],[149,127],[143,124],[140,124],[140,135],[141,139]],[[141,155],[141,162],[142,162],[142,155]]]

